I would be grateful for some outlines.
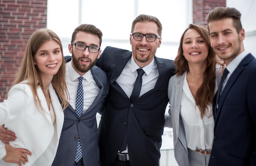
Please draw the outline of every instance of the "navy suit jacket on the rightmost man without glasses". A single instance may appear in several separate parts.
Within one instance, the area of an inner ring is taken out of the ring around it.
[[[216,95],[213,107],[216,105]],[[209,166],[256,165],[256,59],[243,58],[229,77],[213,114]]]

